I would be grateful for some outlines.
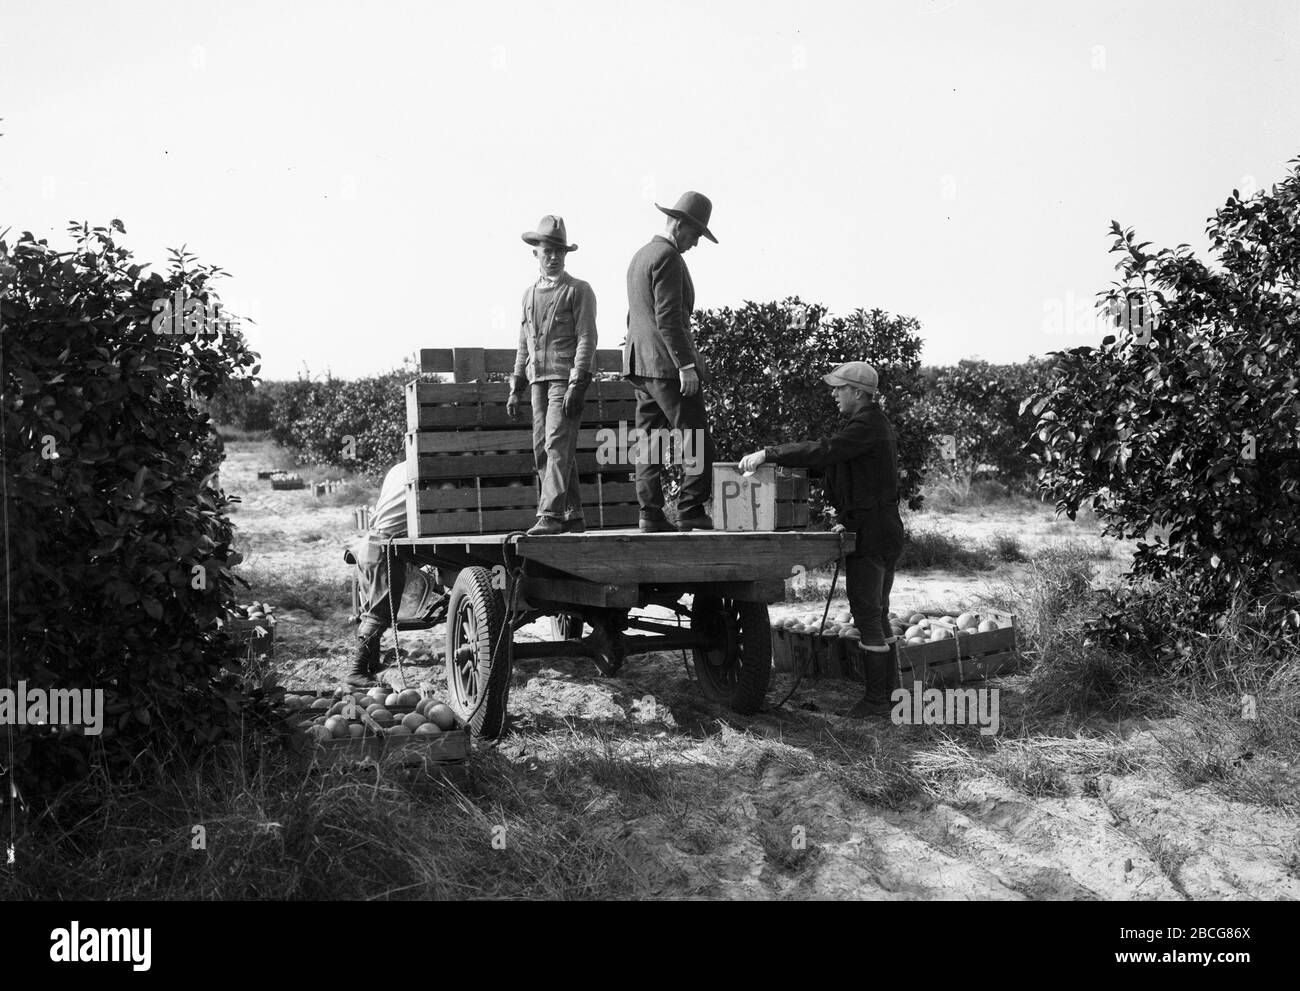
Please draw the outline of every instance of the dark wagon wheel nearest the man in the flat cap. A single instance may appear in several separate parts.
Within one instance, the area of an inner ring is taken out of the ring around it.
[[[772,679],[772,628],[763,602],[696,596],[690,628],[718,645],[694,648],[696,676],[714,702],[751,715],[763,705]]]

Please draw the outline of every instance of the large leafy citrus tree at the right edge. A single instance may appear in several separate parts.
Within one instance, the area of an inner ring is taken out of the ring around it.
[[[1274,652],[1300,627],[1295,164],[1269,191],[1234,190],[1209,221],[1209,264],[1114,224],[1105,300],[1124,326],[1054,354],[1053,386],[1026,403],[1044,493],[1071,518],[1091,503],[1108,532],[1139,541],[1134,575],[1173,590],[1147,613],[1205,629],[1244,609]]]

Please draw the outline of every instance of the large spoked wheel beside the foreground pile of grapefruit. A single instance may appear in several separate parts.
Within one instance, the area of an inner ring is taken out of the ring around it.
[[[506,724],[511,635],[491,572],[464,568],[447,601],[447,685],[452,707],[478,736],[497,737]]]

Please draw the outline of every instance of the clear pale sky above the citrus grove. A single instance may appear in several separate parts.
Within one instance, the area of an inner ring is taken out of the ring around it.
[[[1112,218],[1204,247],[1300,155],[1300,0],[4,0],[0,117],[0,229],[186,243],[268,377],[514,346],[543,213],[616,346],[686,189],[697,306],[881,307],[928,363],[1019,360],[1097,339]]]

